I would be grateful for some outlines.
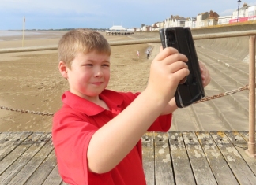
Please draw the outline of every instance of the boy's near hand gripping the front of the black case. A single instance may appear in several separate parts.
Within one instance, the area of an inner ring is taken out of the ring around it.
[[[154,98],[169,102],[174,97],[179,82],[190,73],[184,61],[187,61],[187,57],[179,54],[175,48],[160,50],[152,61],[146,90]]]

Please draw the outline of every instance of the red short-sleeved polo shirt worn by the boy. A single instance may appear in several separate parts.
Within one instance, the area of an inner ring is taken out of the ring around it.
[[[58,171],[64,182],[79,185],[146,184],[142,167],[141,141],[137,142],[134,149],[110,172],[104,174],[89,172],[87,164],[88,143],[94,132],[130,105],[137,95],[138,93],[104,90],[100,98],[110,110],[69,91],[62,95],[63,105],[55,113],[52,138]],[[168,131],[170,127],[171,114],[160,116],[149,131]]]

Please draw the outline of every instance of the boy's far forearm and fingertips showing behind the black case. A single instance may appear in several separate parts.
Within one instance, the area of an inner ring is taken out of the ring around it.
[[[206,87],[209,82],[211,81],[211,77],[209,75],[209,70],[205,67],[205,64],[199,61],[200,71],[201,71],[201,80],[203,83],[203,86]],[[161,115],[166,115],[169,113],[173,113],[176,109],[178,109],[175,98],[172,98],[170,102],[168,102],[168,105],[166,105],[164,111],[161,113]]]

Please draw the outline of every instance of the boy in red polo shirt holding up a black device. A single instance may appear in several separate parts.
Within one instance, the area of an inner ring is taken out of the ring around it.
[[[168,131],[174,94],[189,74],[186,56],[166,48],[152,61],[149,83],[136,94],[109,91],[111,48],[95,31],[73,30],[58,44],[59,71],[70,85],[55,113],[53,142],[70,184],[145,185],[141,136]],[[202,65],[205,85],[209,72]]]

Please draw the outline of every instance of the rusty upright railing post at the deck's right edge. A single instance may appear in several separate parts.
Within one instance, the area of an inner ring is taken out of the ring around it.
[[[255,154],[255,35],[249,39],[249,141],[246,153],[256,158]]]

